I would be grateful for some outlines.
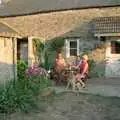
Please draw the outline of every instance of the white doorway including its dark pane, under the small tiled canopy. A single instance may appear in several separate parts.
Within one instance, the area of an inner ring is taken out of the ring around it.
[[[120,77],[120,40],[107,42],[106,57],[106,76]]]

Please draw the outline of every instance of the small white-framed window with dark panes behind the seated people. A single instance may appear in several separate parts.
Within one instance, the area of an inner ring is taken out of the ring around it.
[[[79,54],[79,40],[70,39],[66,40],[66,56],[76,56]]]

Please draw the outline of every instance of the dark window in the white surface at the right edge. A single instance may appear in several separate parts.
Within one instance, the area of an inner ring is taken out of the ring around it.
[[[120,40],[111,42],[111,53],[120,54]]]

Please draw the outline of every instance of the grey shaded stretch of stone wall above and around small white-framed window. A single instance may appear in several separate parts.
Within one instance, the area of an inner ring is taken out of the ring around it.
[[[60,36],[57,36],[56,38],[53,38],[51,40],[47,41],[47,44],[53,44],[53,47],[56,50],[60,49],[60,47],[64,46],[65,39],[80,39],[80,52],[85,51],[92,51],[93,49],[96,49],[96,47],[99,45],[100,41],[94,37],[94,24],[92,21],[89,22],[83,22],[82,24],[78,24],[74,29],[70,30],[69,32],[66,32],[65,34],[62,34]]]

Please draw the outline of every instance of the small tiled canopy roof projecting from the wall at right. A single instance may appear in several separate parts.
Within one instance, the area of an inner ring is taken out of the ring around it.
[[[120,16],[98,17],[93,20],[94,33],[120,33]]]

